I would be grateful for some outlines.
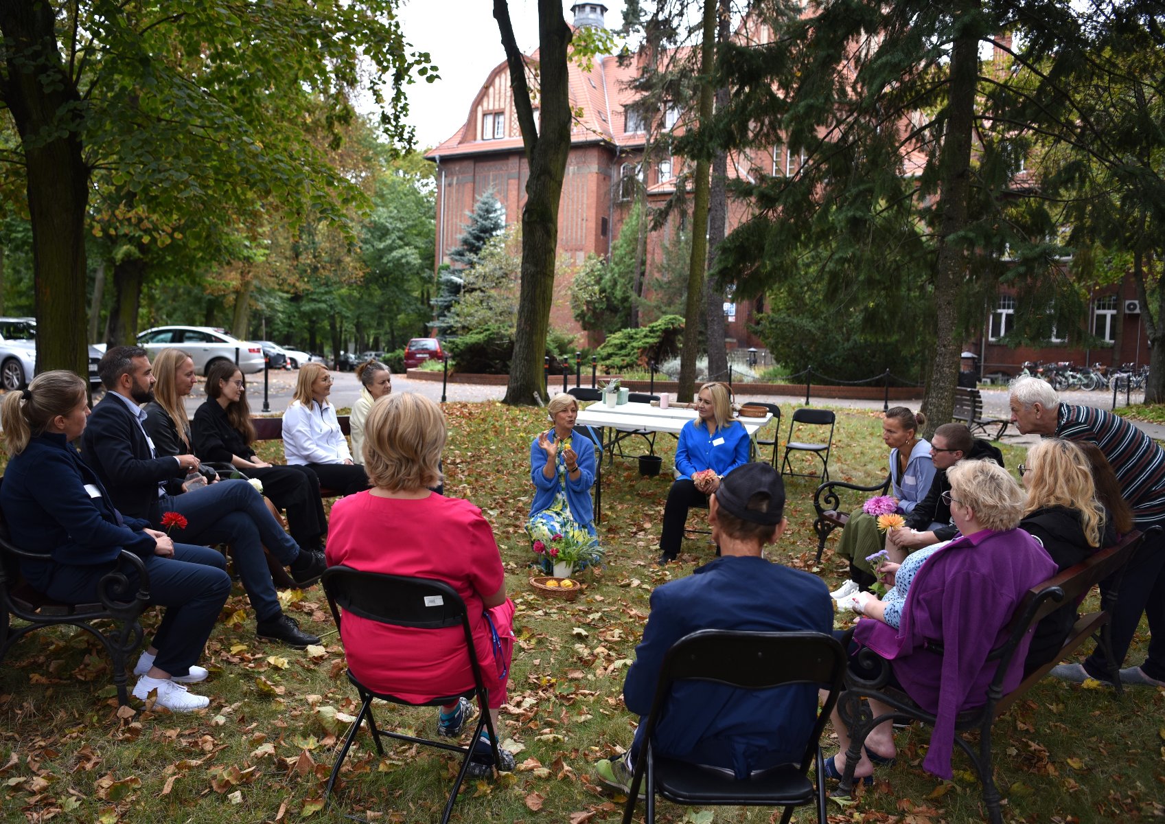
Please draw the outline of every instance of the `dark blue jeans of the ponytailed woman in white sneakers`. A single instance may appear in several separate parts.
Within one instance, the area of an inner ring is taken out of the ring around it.
[[[167,607],[154,633],[153,643],[157,647],[154,665],[170,675],[186,675],[203,654],[231,594],[226,561],[213,549],[184,543],[174,544],[172,558],[151,555],[142,561],[149,575],[149,603]],[[45,594],[66,604],[94,601],[98,580],[114,566],[59,566]],[[129,575],[126,597],[136,591],[136,578]]]

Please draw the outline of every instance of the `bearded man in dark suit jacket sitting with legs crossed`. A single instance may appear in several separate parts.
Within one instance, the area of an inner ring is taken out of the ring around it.
[[[285,615],[275,593],[263,555],[263,545],[301,585],[319,579],[326,563],[323,552],[301,550],[267,509],[262,495],[245,480],[213,485],[183,483],[188,472],[199,470],[192,455],[158,458],[146,430],[141,403],[151,400],[154,374],[146,350],[114,346],[98,366],[106,395],[93,407],[82,437],[82,451],[108,490],[114,506],[126,515],[150,521],[162,528],[163,513],[175,512],[186,526],[171,527],[176,541],[185,543],[228,543],[234,549],[235,569],[255,608],[259,638],[282,641],[292,647],[319,643],[319,638],[299,629]],[[196,483],[200,479],[195,476]]]

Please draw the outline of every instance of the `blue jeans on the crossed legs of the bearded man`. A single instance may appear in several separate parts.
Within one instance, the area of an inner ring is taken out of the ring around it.
[[[263,503],[263,496],[250,484],[220,480],[181,495],[163,495],[158,508],[162,513],[176,512],[186,519],[185,529],[174,529],[176,540],[231,544],[234,568],[257,620],[270,620],[283,611],[267,569],[263,547],[284,566],[299,557],[299,547],[283,531]]]

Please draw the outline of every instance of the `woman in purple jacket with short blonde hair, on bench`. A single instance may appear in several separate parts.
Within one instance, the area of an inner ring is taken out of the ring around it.
[[[961,460],[947,470],[947,479],[951,491],[944,494],[951,499],[951,517],[959,536],[918,570],[901,626],[895,629],[863,619],[854,631],[854,641],[888,660],[895,685],[935,714],[923,767],[949,780],[955,717],[986,702],[987,684],[995,676],[995,664],[987,655],[1003,642],[1028,590],[1055,573],[1055,562],[1017,528],[1024,495],[1001,466],[991,460]],[[1019,683],[1030,641],[1029,633],[1011,659],[1004,692]],[[941,654],[934,652],[935,645],[941,645]],[[892,712],[876,702],[870,702],[870,710],[875,717]],[[833,728],[841,751],[826,761],[825,772],[840,779],[849,732],[836,710]],[[894,756],[892,728],[887,720],[866,738],[854,776],[870,783],[874,763],[888,763]]]

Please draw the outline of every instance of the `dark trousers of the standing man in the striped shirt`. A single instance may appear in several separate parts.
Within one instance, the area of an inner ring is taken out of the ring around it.
[[[1102,580],[1100,586],[1104,591],[1110,583]],[[1124,568],[1109,631],[1113,633],[1113,657],[1117,668],[1124,664],[1142,613],[1149,619],[1150,639],[1149,656],[1141,669],[1150,678],[1165,681],[1165,533],[1153,541],[1145,540]],[[1109,677],[1100,648],[1085,661],[1085,669],[1094,678]]]

